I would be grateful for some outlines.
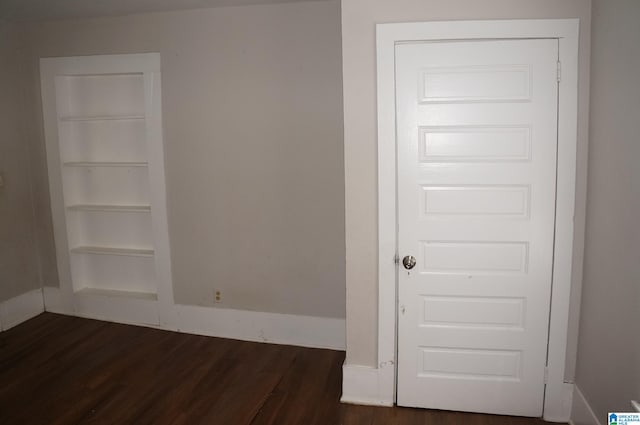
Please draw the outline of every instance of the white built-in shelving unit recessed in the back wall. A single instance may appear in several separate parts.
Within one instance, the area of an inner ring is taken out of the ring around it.
[[[156,302],[170,290],[159,56],[43,59],[41,68],[61,287],[88,316]],[[144,321],[156,322],[149,311]]]

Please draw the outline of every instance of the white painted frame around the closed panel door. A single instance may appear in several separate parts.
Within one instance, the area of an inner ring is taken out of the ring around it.
[[[553,38],[559,41],[556,223],[549,327],[547,421],[565,422],[573,385],[564,382],[576,183],[578,119],[578,19],[448,21],[377,25],[378,71],[378,392],[381,404],[396,397],[397,194],[395,46],[436,40]]]

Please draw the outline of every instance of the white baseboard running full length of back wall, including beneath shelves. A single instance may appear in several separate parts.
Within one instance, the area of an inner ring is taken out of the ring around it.
[[[108,296],[76,293],[69,309],[60,303],[61,297],[60,289],[46,287],[46,311],[219,338],[345,349],[344,319],[174,305],[172,320],[158,325],[149,320],[157,315],[154,309],[162,308],[156,301],[125,299],[114,305]]]

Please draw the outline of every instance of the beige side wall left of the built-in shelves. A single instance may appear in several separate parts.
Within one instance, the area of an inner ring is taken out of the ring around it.
[[[18,34],[0,21],[0,301],[41,286]]]

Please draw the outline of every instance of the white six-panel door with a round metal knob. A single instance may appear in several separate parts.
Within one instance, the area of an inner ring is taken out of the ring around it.
[[[399,405],[542,414],[557,63],[553,39],[396,46]]]

